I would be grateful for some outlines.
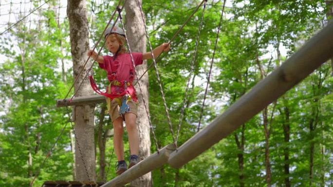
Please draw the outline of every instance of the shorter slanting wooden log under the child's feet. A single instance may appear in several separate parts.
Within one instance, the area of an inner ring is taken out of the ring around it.
[[[175,150],[174,144],[169,144],[166,147],[162,148],[158,153],[151,154],[148,158],[142,160],[129,170],[126,170],[121,175],[115,177],[111,181],[105,183],[101,187],[122,187],[125,184],[129,183],[130,181],[152,171],[158,167],[164,165],[170,153]]]

